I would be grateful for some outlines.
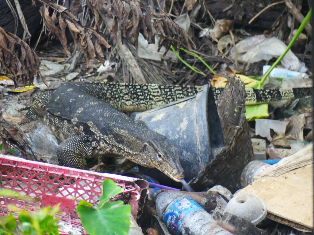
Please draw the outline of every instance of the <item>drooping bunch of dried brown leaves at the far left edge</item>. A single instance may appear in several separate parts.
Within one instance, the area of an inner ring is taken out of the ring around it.
[[[14,84],[17,86],[19,78],[23,85],[29,81],[33,83],[34,76],[40,75],[44,83],[46,80],[39,71],[39,59],[36,53],[22,39],[15,34],[6,33],[0,27],[0,63],[4,74],[14,76]]]

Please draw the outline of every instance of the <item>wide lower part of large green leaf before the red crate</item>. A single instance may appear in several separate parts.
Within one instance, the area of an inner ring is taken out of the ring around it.
[[[80,202],[76,211],[90,235],[127,235],[131,206],[122,204],[123,201],[105,202],[98,209]]]

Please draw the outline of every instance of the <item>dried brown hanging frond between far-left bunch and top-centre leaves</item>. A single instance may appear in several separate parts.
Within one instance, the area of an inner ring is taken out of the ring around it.
[[[67,12],[67,8],[62,7],[50,0],[38,0],[44,3],[41,6],[40,13],[45,20],[48,29],[54,34],[61,42],[67,55],[71,55],[67,47],[67,38],[65,36],[65,30],[68,27],[74,43],[77,44],[85,55],[86,65],[89,66],[89,60],[99,60],[101,63],[105,62],[105,56],[102,53],[100,44],[103,44],[107,48],[110,45],[107,41],[97,33],[95,29],[88,26],[82,26],[81,22],[70,12]],[[71,8],[74,12],[79,12],[79,5],[77,2],[73,2]],[[49,14],[49,8],[53,9],[52,15]],[[60,29],[56,26],[59,24]]]

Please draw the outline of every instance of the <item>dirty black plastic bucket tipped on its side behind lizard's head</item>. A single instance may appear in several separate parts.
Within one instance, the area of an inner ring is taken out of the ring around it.
[[[223,134],[211,87],[203,86],[196,95],[145,112],[132,113],[135,120],[172,140],[180,150],[180,161],[185,180],[190,181],[212,159],[213,149],[223,146]],[[143,167],[140,167],[143,170]],[[155,169],[154,169],[155,170]],[[165,183],[160,171],[144,170]],[[165,177],[166,181],[170,181]],[[166,182],[167,183],[167,182]]]

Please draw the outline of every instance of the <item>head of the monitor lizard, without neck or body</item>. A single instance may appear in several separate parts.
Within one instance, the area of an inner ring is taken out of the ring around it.
[[[172,180],[180,182],[184,178],[184,170],[180,164],[179,149],[170,139],[149,140],[143,144],[141,154],[147,159],[149,166],[157,168]]]

